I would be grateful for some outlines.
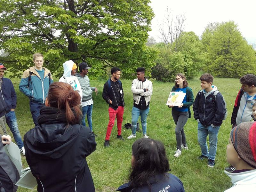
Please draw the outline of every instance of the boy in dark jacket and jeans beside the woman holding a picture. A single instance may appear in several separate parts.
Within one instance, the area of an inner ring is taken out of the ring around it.
[[[213,76],[211,74],[203,74],[200,81],[202,90],[197,93],[193,105],[194,118],[198,122],[197,137],[202,151],[202,155],[198,158],[201,160],[208,159],[208,167],[213,167],[217,151],[218,132],[225,115],[225,103],[220,92],[214,98],[213,94],[218,89],[212,85]],[[209,135],[209,151],[206,143],[207,135]]]

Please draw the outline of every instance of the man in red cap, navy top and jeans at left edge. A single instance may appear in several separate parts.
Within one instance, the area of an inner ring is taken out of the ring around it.
[[[12,81],[9,78],[4,78],[5,70],[6,68],[4,67],[4,65],[0,63],[1,90],[2,90],[3,98],[6,104],[5,120],[13,134],[15,142],[20,148],[20,153],[22,155],[25,155],[24,144],[21,139],[20,131],[17,124],[16,114],[15,114],[17,96],[16,96],[15,89],[13,87]]]

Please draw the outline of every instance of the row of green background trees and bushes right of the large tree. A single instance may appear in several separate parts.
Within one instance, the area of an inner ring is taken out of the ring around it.
[[[233,78],[256,73],[256,52],[234,21],[210,23],[200,38],[192,31],[181,31],[173,42],[163,41],[152,43],[151,37],[147,42],[157,51],[156,66],[151,72],[157,80],[173,81],[180,72],[188,78],[196,77],[199,71]]]

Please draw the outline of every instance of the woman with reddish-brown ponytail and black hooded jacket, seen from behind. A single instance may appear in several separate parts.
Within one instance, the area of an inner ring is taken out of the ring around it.
[[[90,128],[79,123],[80,100],[71,85],[52,83],[39,125],[24,136],[26,160],[39,192],[95,191],[85,157],[97,144]]]

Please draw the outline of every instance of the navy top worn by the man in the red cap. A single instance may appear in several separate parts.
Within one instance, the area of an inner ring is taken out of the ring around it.
[[[16,108],[17,96],[11,79],[2,78],[2,92],[6,103],[6,113]]]

